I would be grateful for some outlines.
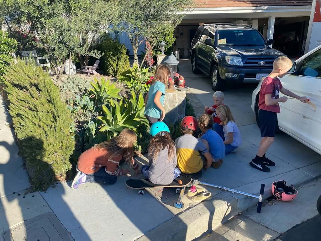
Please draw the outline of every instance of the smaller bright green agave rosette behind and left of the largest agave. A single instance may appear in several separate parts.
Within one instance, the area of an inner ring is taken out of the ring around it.
[[[95,83],[90,84],[92,85],[89,91],[90,98],[93,98],[98,106],[109,103],[113,98],[121,99],[118,95],[120,89],[116,88],[115,83],[110,85],[110,80],[106,82],[104,78],[101,78],[99,83],[95,78]]]

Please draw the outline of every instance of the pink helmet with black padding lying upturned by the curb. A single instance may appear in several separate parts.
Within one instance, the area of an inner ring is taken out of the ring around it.
[[[272,183],[272,193],[278,200],[291,201],[297,196],[298,191],[293,185],[287,186],[286,182],[281,180]]]

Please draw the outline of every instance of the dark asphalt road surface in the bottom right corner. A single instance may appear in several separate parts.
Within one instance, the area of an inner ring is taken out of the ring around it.
[[[299,211],[299,210],[293,210]],[[320,241],[321,240],[321,215],[294,226],[274,241]]]

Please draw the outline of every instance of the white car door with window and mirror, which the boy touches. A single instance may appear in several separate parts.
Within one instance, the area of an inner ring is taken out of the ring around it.
[[[297,75],[281,79],[284,88],[299,96],[307,96],[316,110],[299,100],[280,102],[279,127],[321,152],[321,48],[307,56]],[[281,94],[283,96],[283,94]]]

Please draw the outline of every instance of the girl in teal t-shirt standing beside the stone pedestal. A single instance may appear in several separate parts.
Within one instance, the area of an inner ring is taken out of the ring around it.
[[[151,87],[145,96],[144,115],[146,116],[150,126],[157,121],[163,121],[165,118],[165,109],[163,105],[169,74],[170,71],[168,67],[165,65],[159,65],[156,68]]]

